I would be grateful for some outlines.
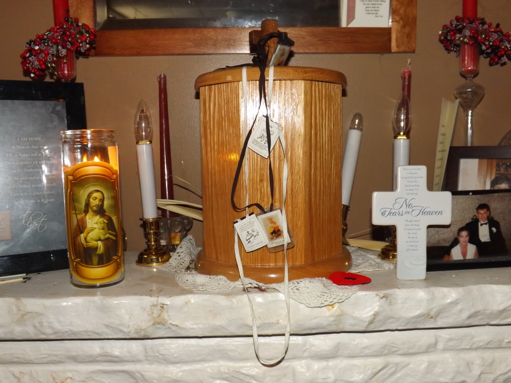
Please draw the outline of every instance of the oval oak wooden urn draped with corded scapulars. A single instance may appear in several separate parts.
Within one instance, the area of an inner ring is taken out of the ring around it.
[[[231,188],[246,132],[259,107],[257,67],[247,68],[248,127],[242,68],[220,69],[199,76],[195,89],[200,97],[201,164],[204,247],[198,255],[197,271],[206,275],[240,278],[236,265],[233,223],[245,216],[231,205]],[[334,70],[275,66],[271,119],[283,127],[288,179],[286,216],[294,247],[286,257],[289,279],[326,277],[351,268],[351,255],[342,251],[341,169],[343,74]],[[268,69],[266,69],[268,89]],[[270,95],[268,94],[268,97]],[[266,114],[263,105],[259,115]],[[268,159],[247,150],[248,186],[244,166],[235,201],[270,206]],[[271,154],[275,206],[282,206],[284,155],[281,142]],[[255,212],[250,208],[249,212]],[[238,238],[236,238],[239,241]],[[262,283],[284,280],[284,251],[261,249],[245,252],[239,244],[245,277]]]

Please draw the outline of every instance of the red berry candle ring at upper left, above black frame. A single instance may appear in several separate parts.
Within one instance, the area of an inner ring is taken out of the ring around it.
[[[23,70],[30,73],[30,78],[36,80],[48,71],[50,76],[56,76],[55,65],[59,57],[65,57],[71,51],[76,58],[79,55],[88,56],[96,44],[96,31],[77,18],[66,17],[64,22],[50,28],[42,35],[36,35],[34,40],[25,44],[25,52],[21,57]]]

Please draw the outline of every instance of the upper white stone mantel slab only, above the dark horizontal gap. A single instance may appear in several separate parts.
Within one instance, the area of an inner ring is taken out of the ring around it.
[[[80,289],[67,270],[0,285],[0,340],[156,339],[252,336],[241,289],[192,292],[164,267],[135,265],[102,289]],[[511,324],[511,269],[428,272],[425,280],[397,280],[395,270],[364,273],[373,282],[333,306],[291,301],[291,332],[386,331]],[[284,297],[250,293],[260,334],[282,334]]]

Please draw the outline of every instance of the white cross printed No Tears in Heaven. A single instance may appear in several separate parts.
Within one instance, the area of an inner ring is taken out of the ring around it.
[[[373,224],[396,225],[397,278],[425,279],[427,227],[451,223],[452,196],[426,188],[426,166],[398,166],[397,185],[373,193]]]

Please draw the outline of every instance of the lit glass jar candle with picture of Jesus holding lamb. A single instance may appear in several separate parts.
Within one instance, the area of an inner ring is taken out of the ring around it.
[[[101,287],[124,279],[119,165],[114,131],[65,130],[62,173],[71,282]]]

